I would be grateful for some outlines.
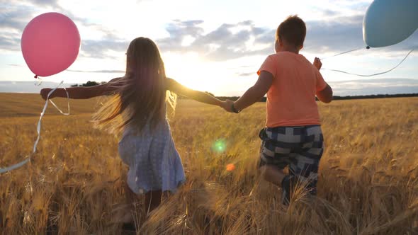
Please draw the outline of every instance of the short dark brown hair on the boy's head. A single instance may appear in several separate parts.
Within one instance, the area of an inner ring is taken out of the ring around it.
[[[289,16],[278,25],[276,31],[276,39],[286,40],[286,42],[292,43],[295,47],[303,45],[306,36],[305,22],[297,15]]]

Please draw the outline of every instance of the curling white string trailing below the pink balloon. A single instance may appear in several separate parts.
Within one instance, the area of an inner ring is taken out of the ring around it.
[[[60,111],[60,113],[62,113],[62,115],[69,115],[69,94],[68,94],[67,89],[65,89],[65,88],[63,87],[63,88],[64,88],[65,93],[67,93],[67,107],[68,107],[68,113],[64,113],[64,112],[62,112],[62,110],[60,110],[60,108],[58,108],[58,107],[57,107],[57,105],[55,105],[55,103],[54,103],[53,101],[51,101],[51,100],[50,100],[50,96],[52,95],[52,93],[54,93],[54,92],[57,90],[57,88],[59,88],[59,87],[60,87],[63,83],[64,83],[64,81],[61,81],[61,83],[60,83],[60,84],[58,84],[58,86],[57,86],[57,87],[53,88],[53,89],[52,89],[52,90],[48,93],[48,95],[47,95],[47,99],[46,99],[46,101],[45,101],[45,105],[43,105],[43,110],[42,110],[42,112],[40,113],[40,117],[39,117],[39,121],[38,121],[38,126],[36,127],[36,132],[38,132],[38,137],[36,138],[35,143],[33,144],[33,150],[32,150],[32,153],[30,153],[30,154],[29,154],[29,156],[28,156],[25,160],[23,160],[23,161],[19,162],[18,164],[13,164],[13,165],[8,166],[8,167],[5,167],[5,168],[0,168],[0,173],[6,173],[6,172],[9,172],[9,171],[13,171],[14,169],[17,169],[17,168],[20,168],[21,166],[24,166],[25,164],[27,164],[27,163],[30,161],[30,159],[32,158],[33,154],[35,154],[35,152],[36,152],[36,147],[38,147],[38,143],[39,143],[39,140],[40,140],[40,126],[41,126],[42,118],[43,118],[43,116],[45,115],[45,111],[47,110],[47,107],[48,107],[48,101],[50,101],[50,103],[52,103],[52,105],[54,105],[54,107],[55,107],[55,108],[57,108],[57,110],[58,110],[58,111]]]

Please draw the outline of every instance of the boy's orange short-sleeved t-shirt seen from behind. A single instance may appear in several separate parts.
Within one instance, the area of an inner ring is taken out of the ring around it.
[[[303,55],[269,55],[257,74],[260,71],[273,74],[273,84],[267,92],[267,127],[320,125],[315,95],[327,83]]]

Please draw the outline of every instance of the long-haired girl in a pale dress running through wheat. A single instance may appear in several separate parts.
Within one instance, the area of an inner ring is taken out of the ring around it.
[[[43,89],[41,96],[46,99],[50,91]],[[115,95],[94,115],[94,120],[113,133],[123,132],[119,154],[129,166],[127,183],[134,193],[145,193],[147,212],[158,207],[164,191],[175,192],[186,180],[166,118],[167,103],[173,109],[176,105],[174,93],[225,108],[224,101],[166,78],[158,47],[148,38],[130,42],[125,76],[107,84],[67,91],[69,98],[76,99]],[[54,97],[67,94],[60,88],[50,96]]]

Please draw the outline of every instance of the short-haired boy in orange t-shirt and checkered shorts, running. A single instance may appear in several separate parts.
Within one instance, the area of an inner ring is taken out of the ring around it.
[[[324,139],[315,95],[324,103],[332,101],[332,88],[319,71],[320,59],[315,58],[312,65],[299,54],[305,35],[305,22],[298,16],[283,21],[276,31],[277,53],[261,65],[256,84],[226,106],[227,111],[239,113],[267,93],[259,167],[264,179],[281,186],[283,204],[290,202],[290,193],[298,182],[316,194]],[[288,175],[283,173],[286,166]]]

